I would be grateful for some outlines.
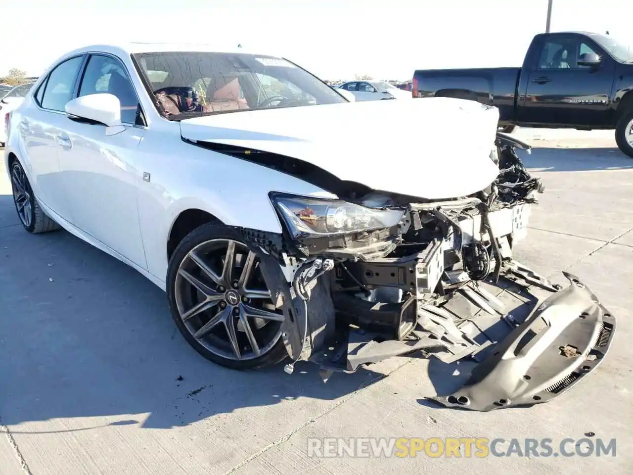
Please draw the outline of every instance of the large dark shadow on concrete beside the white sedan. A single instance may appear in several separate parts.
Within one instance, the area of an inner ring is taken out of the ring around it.
[[[0,196],[0,216],[12,206]],[[309,363],[291,376],[283,365],[214,365],[185,343],[165,293],[141,274],[68,232],[13,224],[0,222],[2,424],[120,416],[116,424],[172,428],[299,398],[334,402],[382,377],[360,370],[323,383]]]

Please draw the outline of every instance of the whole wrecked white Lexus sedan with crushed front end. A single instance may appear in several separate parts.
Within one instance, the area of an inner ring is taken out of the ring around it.
[[[141,272],[213,362],[311,360],[327,379],[476,355],[437,400],[490,410],[562,393],[615,329],[577,277],[513,259],[542,185],[498,118],[452,98],[350,103],[242,49],[91,46],[11,112],[5,164],[26,231],[61,226]]]

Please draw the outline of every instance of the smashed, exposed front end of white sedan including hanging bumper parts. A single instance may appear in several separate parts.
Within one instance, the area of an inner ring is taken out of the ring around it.
[[[398,355],[479,364],[449,407],[548,402],[605,357],[615,320],[575,276],[562,288],[513,259],[543,187],[498,133],[487,189],[441,201],[372,192],[341,200],[271,193],[278,246],[246,231],[268,282],[280,285],[292,363],[327,380]]]

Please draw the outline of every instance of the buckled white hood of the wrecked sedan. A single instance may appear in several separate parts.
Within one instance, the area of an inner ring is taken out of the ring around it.
[[[499,111],[425,98],[241,111],[180,122],[182,137],[291,156],[341,180],[428,200],[486,188]]]

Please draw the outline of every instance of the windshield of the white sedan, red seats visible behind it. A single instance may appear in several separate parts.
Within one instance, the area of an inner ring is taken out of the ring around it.
[[[346,99],[290,61],[230,53],[142,53],[137,63],[158,110],[179,120],[249,109],[343,103]]]

